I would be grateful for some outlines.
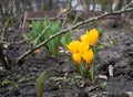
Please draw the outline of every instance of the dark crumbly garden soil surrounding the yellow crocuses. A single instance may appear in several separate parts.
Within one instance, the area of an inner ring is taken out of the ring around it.
[[[16,58],[30,46],[25,43],[13,44],[4,50],[10,69],[4,69],[0,63],[0,97],[35,97],[34,82],[43,71],[47,72],[44,97],[133,97],[133,28],[125,23],[99,26],[103,26],[104,32],[96,55],[98,76],[106,78],[98,77],[94,85],[82,87],[82,78],[71,65],[68,54],[54,57],[44,47],[40,48],[40,54],[31,54],[17,65]],[[85,30],[74,30],[73,39]],[[22,41],[20,30],[7,33],[10,42]],[[114,68],[113,77],[109,76],[110,65]]]

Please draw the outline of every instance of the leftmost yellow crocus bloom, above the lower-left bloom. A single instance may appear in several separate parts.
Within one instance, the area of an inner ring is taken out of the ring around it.
[[[68,50],[71,53],[78,53],[80,50],[81,42],[73,40],[69,45],[66,45]]]

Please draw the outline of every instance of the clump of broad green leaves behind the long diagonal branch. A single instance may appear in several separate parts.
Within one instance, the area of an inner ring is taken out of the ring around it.
[[[24,40],[32,39],[30,40],[29,43],[33,45],[38,45],[43,41],[48,40],[51,35],[54,35],[55,33],[58,33],[60,29],[60,20],[51,22],[50,18],[48,15],[44,15],[44,21],[38,21],[38,22],[32,21],[32,26],[33,28],[29,33],[23,34],[23,39]],[[44,45],[50,52],[50,54],[52,55],[58,54],[60,40],[61,40],[61,35],[55,36]]]

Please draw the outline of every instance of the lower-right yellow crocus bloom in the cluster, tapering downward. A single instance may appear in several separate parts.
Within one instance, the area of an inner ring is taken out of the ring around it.
[[[92,62],[92,60],[93,60],[93,52],[92,52],[92,50],[89,50],[88,52],[85,52],[85,53],[82,55],[82,58],[83,58],[86,63],[91,64],[91,62]]]

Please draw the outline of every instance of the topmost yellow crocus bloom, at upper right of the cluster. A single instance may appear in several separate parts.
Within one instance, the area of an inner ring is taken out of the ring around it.
[[[99,32],[96,31],[96,29],[92,29],[91,31],[86,31],[86,37],[89,40],[89,43],[91,45],[95,45],[99,39]]]

